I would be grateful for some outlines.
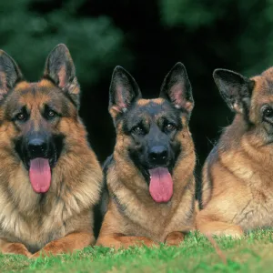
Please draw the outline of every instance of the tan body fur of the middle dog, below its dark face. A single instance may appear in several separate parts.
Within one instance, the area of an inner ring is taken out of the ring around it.
[[[116,135],[114,163],[106,174],[110,200],[96,245],[113,248],[141,243],[150,247],[160,242],[178,245],[184,238],[182,233],[195,225],[196,156],[188,126],[176,136],[183,153],[173,171],[174,195],[167,204],[158,204],[150,197],[144,177],[128,157],[131,139],[123,133],[122,124],[116,128]]]

